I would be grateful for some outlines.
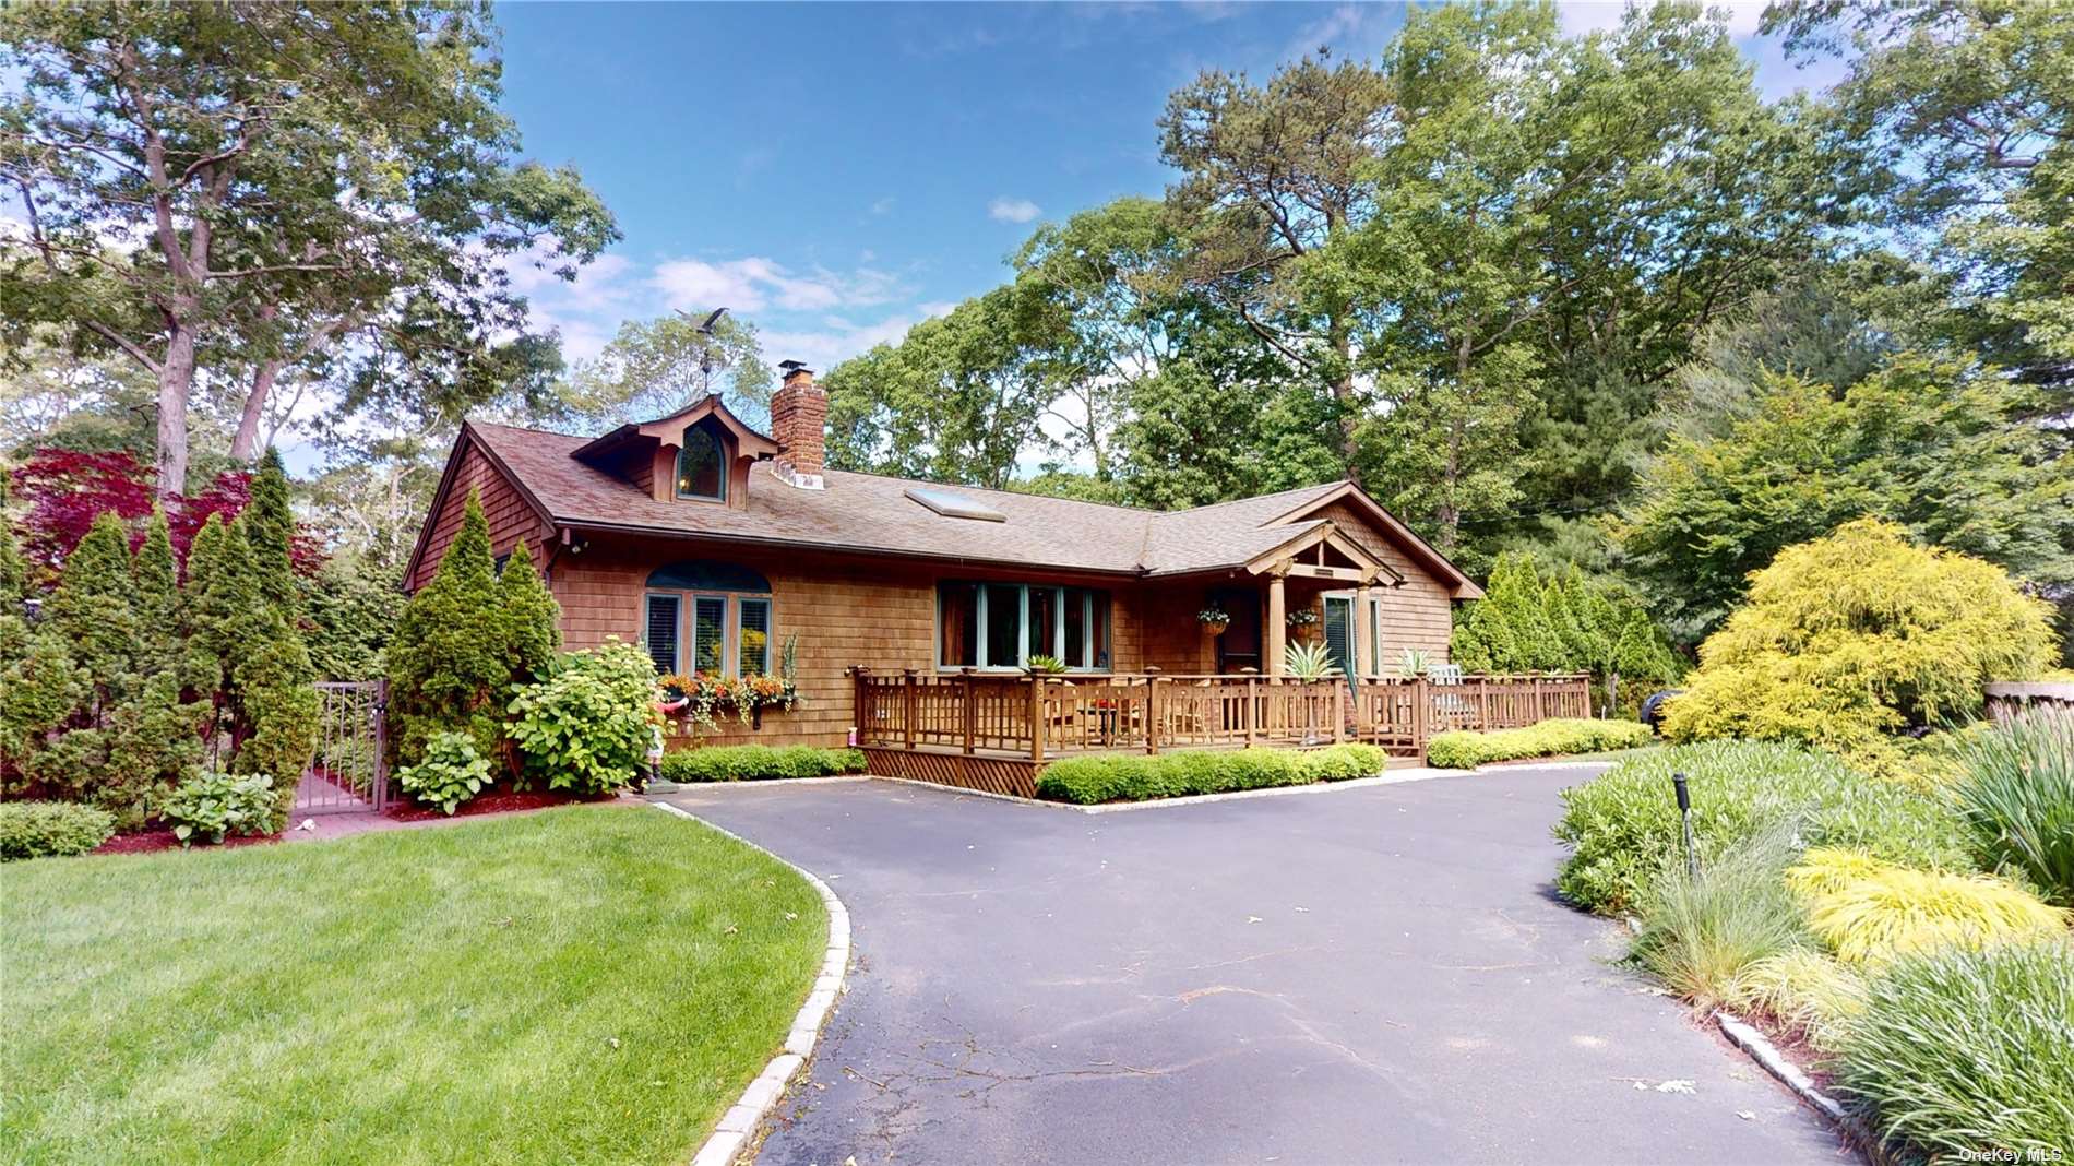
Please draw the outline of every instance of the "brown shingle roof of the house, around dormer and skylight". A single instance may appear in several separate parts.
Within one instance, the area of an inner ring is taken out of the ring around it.
[[[1072,498],[954,485],[1006,521],[950,519],[906,496],[908,477],[828,471],[798,490],[757,463],[747,508],[657,502],[630,481],[570,456],[587,438],[473,421],[467,427],[554,523],[798,544],[927,558],[1045,564],[1072,571],[1182,575],[1240,566],[1300,537],[1319,519],[1278,521],[1342,483],[1307,485],[1193,510],[1139,510]]]

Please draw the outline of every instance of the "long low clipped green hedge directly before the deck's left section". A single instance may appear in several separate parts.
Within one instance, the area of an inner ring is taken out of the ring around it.
[[[1186,749],[1159,755],[1068,757],[1045,766],[1037,797],[1095,805],[1203,793],[1338,782],[1383,772],[1390,755],[1375,745],[1290,749]]]

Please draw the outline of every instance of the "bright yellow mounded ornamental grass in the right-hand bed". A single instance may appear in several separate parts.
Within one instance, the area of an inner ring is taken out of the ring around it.
[[[2066,927],[2066,913],[2008,882],[1914,871],[1850,851],[1809,851],[1786,884],[1806,905],[1815,936],[1852,965]]]

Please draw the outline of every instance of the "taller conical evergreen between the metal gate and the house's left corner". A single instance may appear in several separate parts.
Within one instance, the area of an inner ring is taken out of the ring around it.
[[[471,490],[460,533],[431,583],[404,606],[388,649],[390,741],[415,761],[436,732],[467,732],[483,757],[502,755],[510,649],[500,627],[489,521]]]

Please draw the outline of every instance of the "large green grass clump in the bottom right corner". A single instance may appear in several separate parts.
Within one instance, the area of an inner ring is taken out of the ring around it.
[[[2074,1145],[2070,1048],[2074,944],[1939,948],[1873,979],[1835,1083],[1891,1143],[2053,1162]]]

